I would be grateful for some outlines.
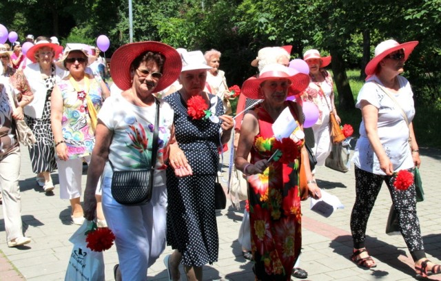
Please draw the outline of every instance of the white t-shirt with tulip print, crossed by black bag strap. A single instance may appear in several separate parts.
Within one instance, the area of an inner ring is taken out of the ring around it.
[[[158,152],[154,185],[165,185],[164,163],[168,157],[170,132],[174,111],[170,105],[159,99]],[[103,103],[98,118],[113,131],[109,160],[115,170],[145,169],[152,159],[152,140],[156,114],[156,103],[150,107],[139,107],[123,96],[110,96]],[[105,177],[112,177],[108,161],[104,169]]]

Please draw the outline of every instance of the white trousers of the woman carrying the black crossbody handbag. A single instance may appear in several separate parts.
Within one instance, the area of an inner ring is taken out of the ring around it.
[[[165,249],[167,187],[154,186],[152,200],[142,206],[121,205],[112,197],[112,178],[103,178],[103,211],[116,239],[123,280],[147,280],[147,269]]]

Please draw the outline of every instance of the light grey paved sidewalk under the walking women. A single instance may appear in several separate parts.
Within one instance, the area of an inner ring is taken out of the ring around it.
[[[439,262],[441,218],[438,217],[438,176],[441,174],[441,151],[420,148],[420,152],[426,200],[418,203],[418,215],[427,256],[433,262]],[[23,247],[8,248],[3,211],[0,212],[0,280],[63,280],[72,250],[68,238],[78,226],[70,224],[70,204],[68,200],[59,198],[58,185],[52,196],[37,187],[28,151],[23,147],[22,159],[20,186],[23,229],[32,242]],[[58,183],[57,173],[52,174],[52,178],[54,183]],[[378,267],[364,270],[349,260],[352,246],[349,217],[355,198],[353,168],[347,174],[341,174],[320,167],[317,178],[318,185],[338,196],[345,209],[324,218],[309,210],[309,200],[302,202],[303,253],[300,267],[309,273],[308,280],[414,280],[413,262],[404,240],[401,236],[384,233],[391,205],[387,187],[384,185],[380,191],[367,229],[367,247]],[[215,264],[204,267],[204,280],[254,280],[252,263],[242,258],[237,241],[242,216],[243,210],[238,211],[232,206],[218,214],[219,259]],[[162,259],[171,251],[167,247],[149,269],[149,280],[167,280]],[[113,267],[117,262],[115,247],[104,252],[104,260],[105,280],[114,280]],[[184,277],[182,268],[181,274]],[[431,279],[441,280],[441,276],[433,275]]]

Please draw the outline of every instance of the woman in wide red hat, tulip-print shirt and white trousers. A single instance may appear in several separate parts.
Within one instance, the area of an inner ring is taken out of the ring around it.
[[[130,43],[114,52],[111,72],[114,83],[123,92],[108,98],[98,115],[96,145],[85,189],[85,217],[94,219],[94,191],[103,174],[103,209],[116,236],[122,278],[147,280],[147,268],[165,249],[165,162],[170,141],[174,141],[173,110],[153,93],[178,79],[181,57],[163,43]],[[158,150],[152,159],[156,116]],[[139,206],[116,202],[111,192],[113,169],[145,169],[152,161],[156,164],[150,202]]]

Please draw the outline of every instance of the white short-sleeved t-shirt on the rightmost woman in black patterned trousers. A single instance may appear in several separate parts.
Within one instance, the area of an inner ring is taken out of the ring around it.
[[[376,76],[371,76],[358,94],[356,107],[361,109],[361,101],[365,100],[378,108],[378,137],[384,151],[391,160],[393,171],[410,169],[414,165],[408,142],[409,126],[404,120],[400,108],[373,81],[377,81],[382,85]],[[398,81],[400,82],[398,94],[393,94],[392,92],[391,94],[400,104],[410,123],[413,120],[413,116],[415,116],[413,92],[407,79],[398,76]],[[384,171],[380,169],[378,158],[367,138],[364,121],[360,124],[360,138],[357,141],[352,160],[358,168],[364,171],[385,175]]]

